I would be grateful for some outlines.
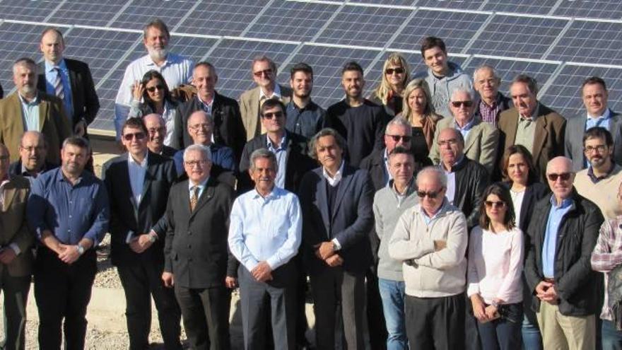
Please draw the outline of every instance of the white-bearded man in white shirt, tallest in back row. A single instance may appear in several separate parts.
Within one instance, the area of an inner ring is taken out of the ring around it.
[[[143,44],[148,54],[131,62],[117,93],[115,100],[115,128],[117,140],[121,139],[121,129],[129,114],[129,104],[134,84],[138,84],[147,71],[160,72],[169,90],[192,81],[191,60],[168,52],[170,33],[168,27],[159,18],[147,23],[143,28]]]

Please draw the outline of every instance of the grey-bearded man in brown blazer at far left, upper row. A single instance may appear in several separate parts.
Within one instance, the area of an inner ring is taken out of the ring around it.
[[[37,92],[37,65],[20,58],[13,64],[16,92],[0,100],[0,143],[8,147],[11,162],[19,159],[20,139],[24,132],[41,132],[47,140],[47,161],[60,163],[59,149],[71,136],[71,127],[59,98]]]

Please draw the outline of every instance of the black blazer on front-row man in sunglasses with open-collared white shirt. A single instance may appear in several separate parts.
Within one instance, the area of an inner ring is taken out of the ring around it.
[[[110,259],[112,264],[135,264],[139,259],[163,264],[165,235],[142,254],[126,243],[131,231],[138,235],[149,233],[165,213],[168,192],[177,174],[170,158],[148,153],[147,171],[143,182],[143,197],[136,206],[127,168],[128,153],[112,158],[102,167],[102,177],[110,198]],[[157,232],[157,230],[156,230]]]

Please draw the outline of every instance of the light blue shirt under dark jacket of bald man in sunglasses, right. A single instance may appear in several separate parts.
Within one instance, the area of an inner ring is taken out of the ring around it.
[[[557,235],[561,221],[565,214],[572,208],[573,199],[564,199],[561,206],[557,206],[555,196],[551,196],[551,211],[548,212],[546,221],[546,232],[544,233],[544,246],[542,247],[542,273],[547,279],[555,276],[555,250],[557,246]]]

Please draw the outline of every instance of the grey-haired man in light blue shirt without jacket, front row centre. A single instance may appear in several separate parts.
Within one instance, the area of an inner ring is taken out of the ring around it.
[[[264,329],[270,314],[274,348],[294,349],[297,279],[291,259],[303,229],[300,203],[295,194],[275,185],[274,153],[259,148],[251,154],[250,165],[255,188],[235,199],[228,239],[241,262],[237,276],[245,349],[266,349]]]

